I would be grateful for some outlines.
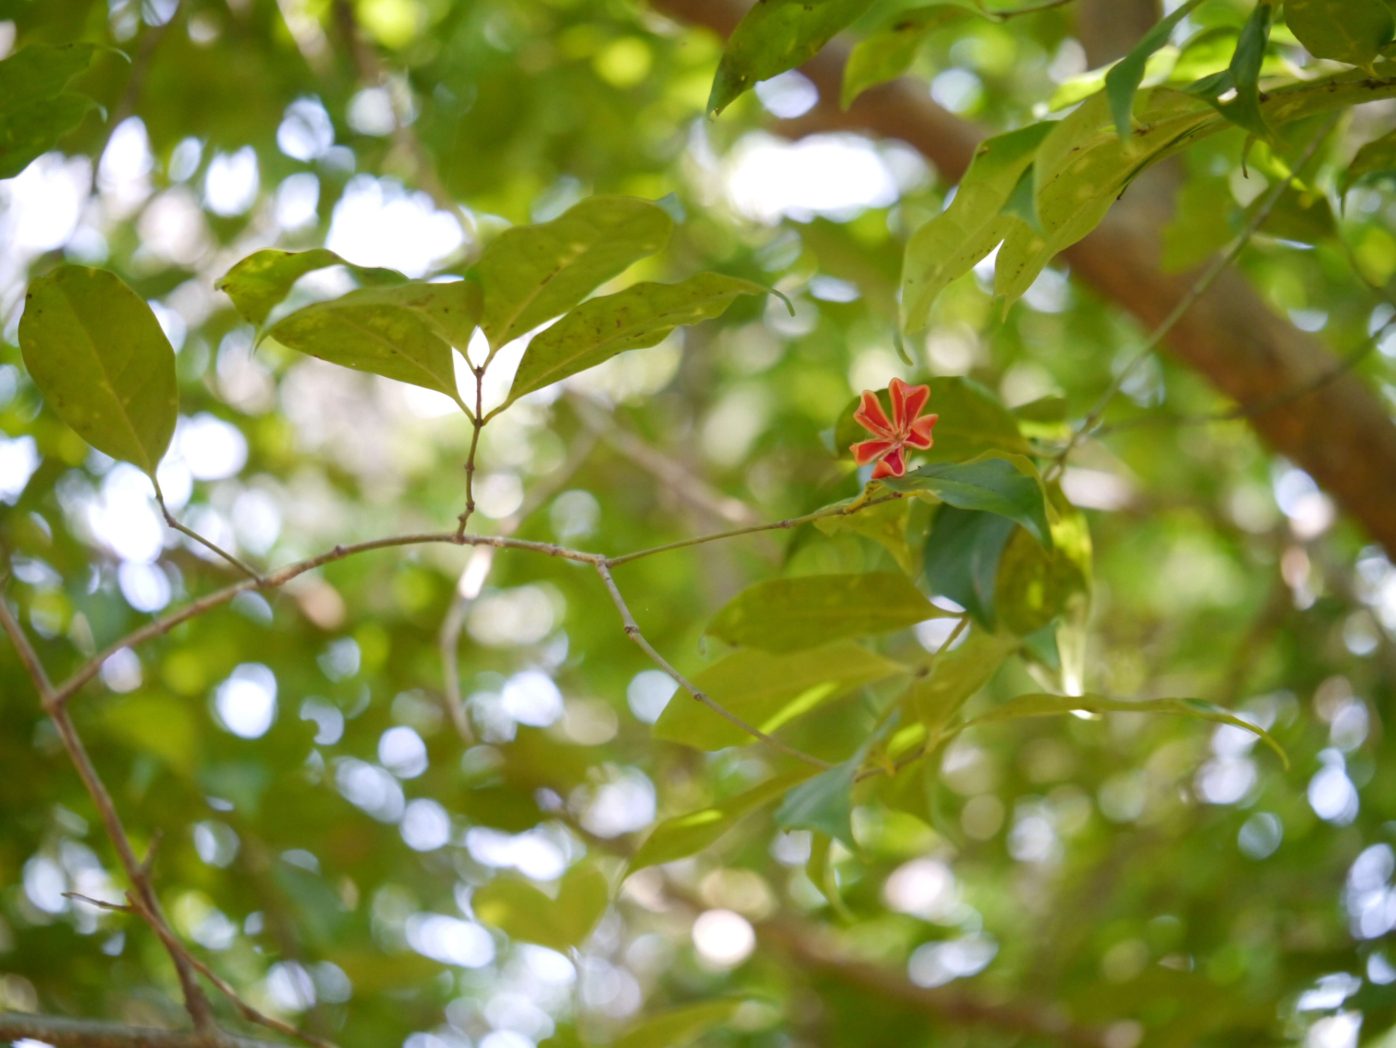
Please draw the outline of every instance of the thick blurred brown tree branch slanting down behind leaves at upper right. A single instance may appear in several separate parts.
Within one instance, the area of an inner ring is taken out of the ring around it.
[[[727,35],[745,13],[744,0],[652,0],[674,18]],[[821,103],[779,126],[792,134],[861,131],[900,138],[948,180],[965,174],[984,131],[931,100],[924,84],[903,78],[838,106],[847,46],[835,42],[801,67]],[[1374,91],[1374,98],[1379,92]],[[1161,201],[1128,194],[1085,240],[1067,248],[1074,275],[1132,313],[1146,328],[1164,321],[1196,280],[1196,271],[1166,274],[1160,265]],[[1168,339],[1171,350],[1206,375],[1242,409],[1328,374],[1333,354],[1314,336],[1280,318],[1247,279],[1228,271],[1188,311]],[[1396,554],[1396,424],[1354,375],[1339,375],[1311,396],[1254,416],[1272,448],[1326,488],[1376,541]]]

